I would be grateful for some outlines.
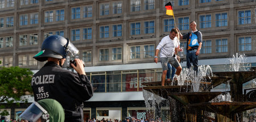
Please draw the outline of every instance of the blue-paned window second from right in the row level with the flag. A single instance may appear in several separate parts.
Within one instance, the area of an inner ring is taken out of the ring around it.
[[[215,14],[216,27],[228,26],[228,15],[227,13]]]

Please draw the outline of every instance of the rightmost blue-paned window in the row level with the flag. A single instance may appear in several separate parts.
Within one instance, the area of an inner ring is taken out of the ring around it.
[[[239,24],[250,24],[251,10],[238,11],[238,22]]]

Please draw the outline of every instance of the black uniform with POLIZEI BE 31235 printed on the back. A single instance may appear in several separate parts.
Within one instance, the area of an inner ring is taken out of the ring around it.
[[[84,121],[83,102],[93,96],[93,87],[86,75],[47,62],[34,74],[31,86],[35,101],[51,98],[60,102],[65,110],[65,121]]]

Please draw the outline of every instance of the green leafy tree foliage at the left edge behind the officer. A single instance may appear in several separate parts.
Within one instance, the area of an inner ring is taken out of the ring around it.
[[[14,102],[27,102],[22,96],[32,93],[32,71],[18,66],[0,67],[0,103],[13,104]],[[4,108],[3,104],[0,108]],[[6,111],[0,111],[0,115],[6,115]]]

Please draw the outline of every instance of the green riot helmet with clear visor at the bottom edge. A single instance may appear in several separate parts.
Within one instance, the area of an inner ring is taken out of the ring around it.
[[[63,107],[57,100],[42,99],[32,103],[19,117],[22,118],[22,121],[64,122],[65,113]]]

